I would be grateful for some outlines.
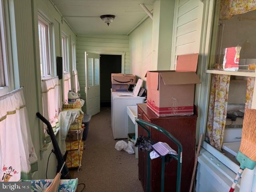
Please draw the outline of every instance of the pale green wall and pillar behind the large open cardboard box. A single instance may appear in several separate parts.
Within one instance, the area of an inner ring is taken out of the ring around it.
[[[129,35],[131,73],[144,78],[148,70],[170,70],[174,1],[154,2],[148,18]]]

